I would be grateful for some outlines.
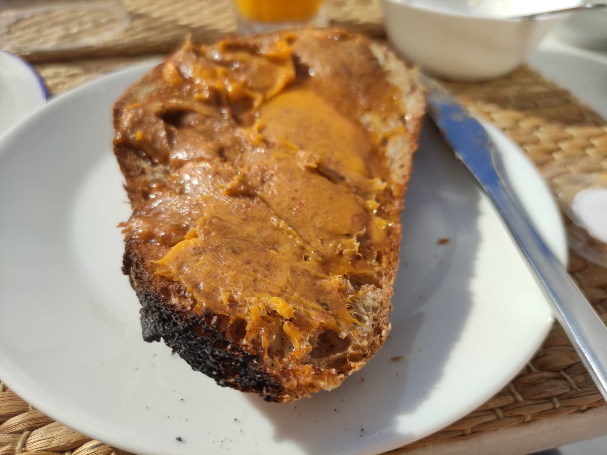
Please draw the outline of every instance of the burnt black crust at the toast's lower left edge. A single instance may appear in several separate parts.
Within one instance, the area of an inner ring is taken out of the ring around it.
[[[123,272],[129,275],[137,291],[140,288],[137,286],[137,267],[133,267],[128,251],[124,254]],[[283,388],[268,374],[259,357],[231,343],[224,332],[205,322],[204,315],[177,311],[154,291],[137,291],[137,297],[141,303],[141,329],[146,342],[163,339],[192,369],[212,377],[220,386],[280,402]],[[200,326],[205,335],[195,334],[194,326]]]

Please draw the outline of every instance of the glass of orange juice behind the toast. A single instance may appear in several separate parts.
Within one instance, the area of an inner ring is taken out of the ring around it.
[[[327,25],[324,0],[234,0],[243,35],[279,29]]]

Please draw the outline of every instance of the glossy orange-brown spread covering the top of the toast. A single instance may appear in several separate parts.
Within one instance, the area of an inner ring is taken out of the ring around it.
[[[356,330],[401,207],[384,150],[401,99],[368,47],[282,33],[188,44],[157,71],[117,126],[150,167],[127,241],[163,246],[155,272],[266,359]]]

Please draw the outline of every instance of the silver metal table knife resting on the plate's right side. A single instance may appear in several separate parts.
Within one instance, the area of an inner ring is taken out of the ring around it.
[[[493,165],[495,150],[483,126],[432,79],[419,74],[418,83],[427,91],[430,117],[506,221],[552,298],[558,322],[607,401],[607,328],[507,191]]]

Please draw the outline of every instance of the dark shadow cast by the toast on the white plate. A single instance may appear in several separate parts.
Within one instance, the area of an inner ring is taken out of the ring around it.
[[[274,426],[277,442],[326,454],[389,450],[414,439],[399,420],[432,394],[472,305],[479,204],[470,175],[427,125],[402,215],[390,338],[334,391],[288,405],[248,397]]]

